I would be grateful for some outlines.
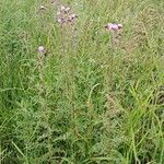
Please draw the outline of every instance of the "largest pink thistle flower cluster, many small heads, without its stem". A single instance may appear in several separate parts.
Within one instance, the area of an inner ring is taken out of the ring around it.
[[[78,15],[74,13],[70,14],[70,12],[71,12],[71,8],[61,5],[59,11],[57,12],[58,23],[63,24],[69,22],[73,24]]]

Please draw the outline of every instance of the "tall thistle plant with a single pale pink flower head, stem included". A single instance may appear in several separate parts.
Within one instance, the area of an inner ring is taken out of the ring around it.
[[[51,148],[51,129],[49,125],[49,108],[47,106],[47,89],[45,84],[45,57],[47,54],[47,49],[44,46],[39,46],[38,49],[38,58],[37,58],[37,66],[38,66],[38,103],[40,106],[40,128],[45,129],[42,132],[42,137],[47,137],[48,144],[48,159],[49,162],[52,157],[52,148]]]

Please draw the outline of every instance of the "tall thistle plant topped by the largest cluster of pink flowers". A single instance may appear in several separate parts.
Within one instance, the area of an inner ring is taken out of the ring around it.
[[[75,22],[77,22],[78,15],[71,11],[70,7],[63,7],[61,5],[57,12],[57,22],[59,24],[59,30],[61,32],[61,44],[62,44],[62,54],[63,56],[63,65],[68,79],[67,79],[67,85],[68,85],[68,95],[69,95],[69,102],[71,105],[70,108],[70,116],[71,116],[71,122],[73,125],[72,133],[77,138],[78,136],[78,127],[74,124],[74,120],[77,120],[77,110],[74,107],[74,95],[73,95],[73,89],[72,84],[74,83],[74,72],[70,68],[74,67],[70,61],[71,58],[69,56],[69,50],[72,51],[72,49],[75,47],[75,39],[77,39],[77,28],[75,28]],[[70,49],[70,46],[73,47]],[[66,54],[67,52],[67,54]],[[74,147],[74,145],[73,145]],[[74,151],[74,148],[73,148]]]

